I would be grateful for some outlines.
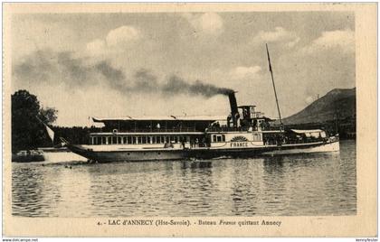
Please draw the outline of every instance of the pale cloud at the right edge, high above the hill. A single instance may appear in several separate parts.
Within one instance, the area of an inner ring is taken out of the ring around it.
[[[318,39],[302,49],[306,53],[314,53],[331,49],[340,49],[346,53],[355,51],[355,33],[352,30],[326,31]]]

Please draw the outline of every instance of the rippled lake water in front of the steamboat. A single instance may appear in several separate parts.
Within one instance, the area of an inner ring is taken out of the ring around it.
[[[12,163],[27,217],[355,215],[356,143],[333,154],[144,163]]]

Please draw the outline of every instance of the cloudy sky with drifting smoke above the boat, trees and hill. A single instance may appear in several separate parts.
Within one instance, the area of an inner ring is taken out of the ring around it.
[[[227,116],[239,105],[290,116],[354,88],[352,12],[14,14],[12,91],[55,107],[58,126],[89,116]]]

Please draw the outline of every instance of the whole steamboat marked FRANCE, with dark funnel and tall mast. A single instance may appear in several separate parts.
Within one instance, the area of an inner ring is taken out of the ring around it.
[[[267,53],[280,116],[268,47]],[[338,135],[322,129],[287,129],[281,117],[280,125],[273,125],[274,120],[256,111],[255,106],[238,106],[234,91],[226,95],[231,107],[228,116],[92,117],[104,128],[90,133],[89,144],[61,139],[71,152],[101,163],[339,151]]]

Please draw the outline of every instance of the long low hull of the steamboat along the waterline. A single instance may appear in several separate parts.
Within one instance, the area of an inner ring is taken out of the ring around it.
[[[98,162],[184,160],[191,158],[253,157],[261,155],[329,153],[339,151],[339,142],[261,145],[240,148],[193,148],[193,149],[104,149],[94,150],[91,145],[69,145],[72,152]]]

